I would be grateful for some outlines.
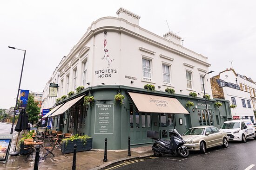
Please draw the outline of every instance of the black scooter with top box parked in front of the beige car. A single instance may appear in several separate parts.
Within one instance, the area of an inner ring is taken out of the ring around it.
[[[188,157],[189,150],[184,146],[185,142],[182,136],[176,129],[170,130],[170,140],[159,139],[159,132],[148,131],[148,138],[154,139],[155,143],[152,146],[152,150],[156,157],[162,156],[162,154],[179,154],[181,157]]]

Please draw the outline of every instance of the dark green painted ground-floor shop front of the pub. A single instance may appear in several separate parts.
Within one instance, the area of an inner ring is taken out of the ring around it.
[[[105,138],[108,139],[109,150],[127,149],[129,136],[132,147],[152,144],[152,139],[147,138],[148,130],[160,132],[161,138],[169,139],[170,129],[175,128],[182,134],[190,127],[208,125],[203,98],[126,86],[87,88],[80,94],[75,94],[73,98],[88,95],[89,92],[94,96],[93,103],[88,107],[83,106],[82,100],[75,103],[65,113],[54,117],[54,126],[62,132],[87,134],[93,138],[94,149],[104,149]],[[123,105],[114,100],[118,92],[125,96]],[[189,114],[139,112],[128,92],[176,98]],[[65,101],[68,100],[71,99],[67,98]],[[187,101],[192,101],[194,107],[186,107]],[[222,103],[219,108],[214,105],[216,100],[207,101],[211,124],[216,127],[220,127],[223,121],[231,118],[229,101],[218,101]]]

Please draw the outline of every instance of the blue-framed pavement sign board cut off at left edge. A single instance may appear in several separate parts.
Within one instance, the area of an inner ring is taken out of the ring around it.
[[[13,135],[0,134],[0,161],[7,162]]]

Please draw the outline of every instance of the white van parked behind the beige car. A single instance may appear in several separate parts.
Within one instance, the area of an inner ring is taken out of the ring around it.
[[[246,142],[246,139],[256,139],[255,127],[251,120],[248,119],[236,119],[225,121],[220,131],[226,132],[230,140],[238,140]]]

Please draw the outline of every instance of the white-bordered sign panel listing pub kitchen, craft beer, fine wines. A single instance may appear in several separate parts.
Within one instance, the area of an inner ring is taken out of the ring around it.
[[[113,134],[114,104],[96,104],[94,134]]]

